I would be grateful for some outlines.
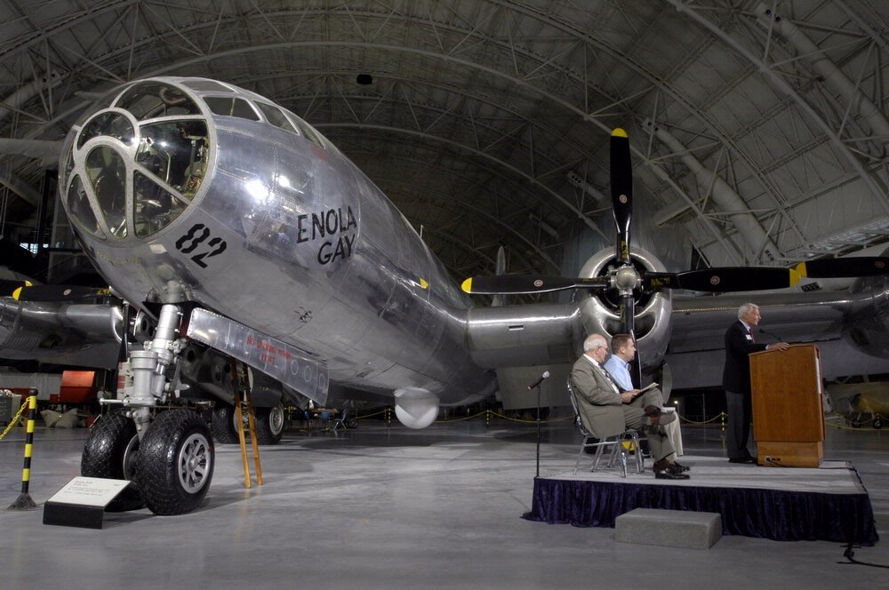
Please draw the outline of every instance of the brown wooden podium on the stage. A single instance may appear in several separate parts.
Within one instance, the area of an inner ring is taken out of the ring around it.
[[[817,467],[824,457],[821,358],[813,344],[750,355],[757,463]],[[768,459],[767,459],[768,458]]]

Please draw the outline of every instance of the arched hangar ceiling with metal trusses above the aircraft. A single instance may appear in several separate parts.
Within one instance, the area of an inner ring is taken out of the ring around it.
[[[635,216],[704,264],[889,240],[882,0],[0,0],[0,16],[0,137],[60,140],[135,78],[224,80],[316,125],[456,276],[492,272],[500,245],[510,272],[556,274],[567,235],[610,242],[617,126]],[[0,140],[0,233],[20,242],[42,145]]]

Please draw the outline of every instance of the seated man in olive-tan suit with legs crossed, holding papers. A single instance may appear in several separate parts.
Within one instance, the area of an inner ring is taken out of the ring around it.
[[[602,366],[608,356],[608,340],[592,334],[583,342],[584,354],[574,363],[571,386],[584,426],[597,438],[620,435],[627,428],[644,429],[654,460],[657,479],[688,479],[687,467],[676,462],[676,452],[662,425],[676,419],[676,412],[661,411],[662,395],[651,389],[621,391]]]

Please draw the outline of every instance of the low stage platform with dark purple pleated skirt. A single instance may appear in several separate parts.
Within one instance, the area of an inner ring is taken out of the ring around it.
[[[534,479],[532,521],[613,527],[634,508],[716,512],[724,535],[774,540],[828,540],[870,546],[878,535],[867,490],[847,461],[819,468],[729,464],[725,458],[681,458],[688,480],[658,480],[646,471],[621,477],[617,468],[590,473],[589,463]]]

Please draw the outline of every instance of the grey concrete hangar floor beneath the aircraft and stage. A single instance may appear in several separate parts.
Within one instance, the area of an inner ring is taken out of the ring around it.
[[[36,502],[79,474],[85,437],[37,428]],[[718,427],[686,424],[683,438],[686,456],[723,454]],[[0,441],[5,506],[20,492],[23,440],[18,429]],[[251,490],[237,447],[220,446],[212,488],[191,514],[107,514],[103,530],[85,530],[44,525],[42,509],[0,512],[0,588],[889,587],[885,569],[849,563],[836,543],[726,536],[709,550],[676,549],[527,522],[535,442],[533,423],[505,419],[420,431],[368,419],[288,433],[262,450],[265,485]],[[544,424],[541,474],[573,467],[579,443],[569,422]],[[858,467],[876,515],[882,541],[854,558],[885,568],[889,431],[829,427],[825,448]]]

